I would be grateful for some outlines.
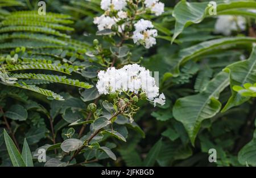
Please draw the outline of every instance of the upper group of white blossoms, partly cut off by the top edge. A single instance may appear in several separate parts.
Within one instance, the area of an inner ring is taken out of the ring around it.
[[[102,31],[104,29],[112,29],[114,25],[117,25],[120,20],[127,19],[127,12],[124,11],[127,6],[128,0],[101,0],[101,9],[105,10],[105,13],[101,16],[94,18],[93,23],[97,24],[98,30]],[[159,0],[145,0],[144,7],[150,9],[155,15],[161,15],[164,12],[164,3],[159,2]],[[116,15],[110,13],[115,11]],[[112,14],[112,16],[109,16]],[[133,20],[127,19],[127,22],[132,22]],[[127,23],[126,22],[126,23]],[[125,24],[118,26],[118,32],[123,32]],[[155,37],[158,35],[156,29],[149,20],[141,19],[134,24],[135,31],[133,32],[133,41],[135,44],[142,44],[145,48],[150,48],[156,44]]]

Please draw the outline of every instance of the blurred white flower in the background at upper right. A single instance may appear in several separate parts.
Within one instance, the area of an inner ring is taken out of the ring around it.
[[[215,32],[225,36],[231,35],[232,31],[242,31],[246,28],[246,19],[242,16],[220,15],[215,23]]]

